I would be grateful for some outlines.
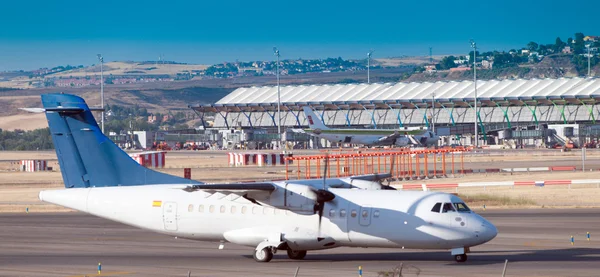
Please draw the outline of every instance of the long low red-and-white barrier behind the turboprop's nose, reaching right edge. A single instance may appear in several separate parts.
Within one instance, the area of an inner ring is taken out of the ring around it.
[[[469,183],[447,183],[447,184],[401,184],[395,185],[400,189],[440,189],[459,187],[497,187],[497,186],[551,186],[571,184],[600,184],[600,179],[582,180],[542,180],[542,181],[505,181],[505,182],[469,182]]]

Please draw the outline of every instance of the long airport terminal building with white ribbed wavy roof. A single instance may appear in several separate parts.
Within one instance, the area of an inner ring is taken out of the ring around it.
[[[281,86],[281,124],[306,127],[309,105],[330,127],[396,129],[429,126],[441,135],[506,136],[505,130],[538,130],[550,124],[592,126],[600,115],[600,79],[516,79]],[[190,106],[215,128],[276,130],[277,86],[239,88],[215,104]],[[581,129],[581,128],[580,128]],[[588,132],[589,133],[589,132]],[[589,135],[586,133],[585,135]],[[582,134],[579,134],[582,135]]]

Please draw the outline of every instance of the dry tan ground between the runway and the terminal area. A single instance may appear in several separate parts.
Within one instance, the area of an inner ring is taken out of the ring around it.
[[[298,151],[295,155],[315,154],[318,151]],[[534,151],[531,153],[488,153],[486,155],[465,156],[465,162],[489,163],[495,161],[519,161],[524,167],[535,167],[537,162],[548,159],[568,159],[575,157],[573,153],[561,153],[559,151],[546,152]],[[556,155],[556,156],[555,156]],[[600,161],[598,152],[592,151],[589,159]],[[20,172],[18,171],[20,159],[44,159],[53,171],[45,172]],[[467,163],[467,165],[468,165]],[[225,151],[181,151],[169,152],[167,154],[167,166],[159,171],[183,177],[183,168],[192,168],[192,179],[204,182],[239,182],[277,180],[285,178],[285,167],[229,167],[228,157]],[[465,166],[467,167],[467,166]],[[316,170],[316,168],[313,168]],[[297,176],[295,167],[290,167],[290,177]],[[304,173],[302,173],[304,174]],[[301,176],[302,176],[301,174]],[[535,173],[479,173],[467,175],[454,175],[448,178],[437,178],[429,180],[411,180],[394,182],[394,184],[409,183],[458,183],[458,182],[489,182],[489,181],[535,181],[535,180],[574,180],[574,179],[600,179],[598,172],[535,172]],[[38,200],[41,190],[62,189],[62,176],[59,171],[58,161],[54,151],[23,151],[23,152],[0,152],[0,212],[19,212],[29,208],[29,212],[55,212],[68,211],[68,209],[46,204]],[[545,187],[523,186],[523,187],[477,187],[459,188],[447,190],[447,192],[459,195],[490,194],[495,196],[506,196],[509,198],[525,198],[532,201],[532,207],[596,207],[600,206],[600,188],[597,184],[552,185]],[[482,208],[477,203],[473,208]],[[487,208],[501,208],[503,205],[487,205]],[[514,207],[514,206],[511,206]]]

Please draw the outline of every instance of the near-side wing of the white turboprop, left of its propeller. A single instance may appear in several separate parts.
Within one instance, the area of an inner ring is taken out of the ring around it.
[[[229,183],[229,184],[201,184],[187,186],[183,190],[187,192],[204,191],[213,194],[227,196],[230,194],[244,197],[250,201],[264,200],[275,191],[272,183]]]

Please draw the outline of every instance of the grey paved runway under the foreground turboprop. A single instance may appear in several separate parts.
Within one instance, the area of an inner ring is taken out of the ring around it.
[[[447,251],[340,248],[257,263],[252,249],[155,234],[82,213],[0,214],[0,276],[598,276],[600,209],[482,212],[499,229],[464,264]],[[586,232],[591,233],[587,241]],[[570,236],[575,236],[571,245]],[[383,275],[382,275],[383,276]]]

